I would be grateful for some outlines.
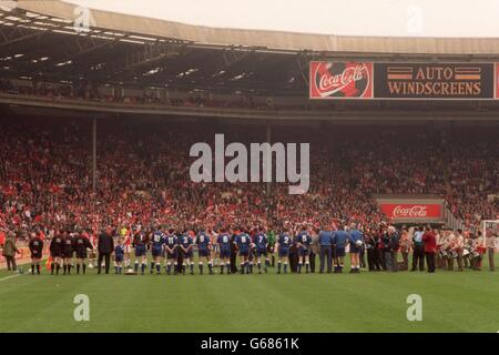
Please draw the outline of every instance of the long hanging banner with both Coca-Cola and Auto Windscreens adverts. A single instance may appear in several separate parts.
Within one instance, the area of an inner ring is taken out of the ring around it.
[[[499,63],[310,61],[310,99],[493,100]]]

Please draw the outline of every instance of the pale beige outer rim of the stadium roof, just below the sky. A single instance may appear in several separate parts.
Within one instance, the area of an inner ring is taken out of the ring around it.
[[[19,0],[19,8],[72,21],[75,6],[59,0]],[[92,10],[92,26],[96,28],[203,45],[246,45],[269,50],[317,52],[499,54],[498,38],[347,37],[218,29],[102,10]]]

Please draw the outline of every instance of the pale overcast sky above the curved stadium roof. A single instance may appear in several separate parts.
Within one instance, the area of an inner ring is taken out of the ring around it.
[[[65,0],[217,28],[323,34],[499,37],[499,0]]]

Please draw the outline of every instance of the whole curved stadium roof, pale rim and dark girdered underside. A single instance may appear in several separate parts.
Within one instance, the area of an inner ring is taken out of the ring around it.
[[[310,60],[499,61],[499,39],[359,38],[214,29],[101,10],[91,11],[89,30],[77,32],[75,9],[57,0],[0,1],[0,78],[285,95],[306,101]],[[428,112],[451,109],[455,114],[466,111],[467,116],[487,111],[490,118],[497,112],[497,101],[458,105],[373,100],[325,105],[357,112],[376,110],[379,114],[419,108]]]

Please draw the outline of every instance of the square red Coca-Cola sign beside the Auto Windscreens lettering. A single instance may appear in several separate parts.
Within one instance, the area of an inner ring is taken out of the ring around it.
[[[310,99],[371,99],[373,63],[313,61]]]

